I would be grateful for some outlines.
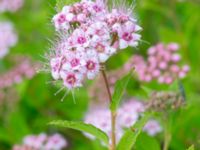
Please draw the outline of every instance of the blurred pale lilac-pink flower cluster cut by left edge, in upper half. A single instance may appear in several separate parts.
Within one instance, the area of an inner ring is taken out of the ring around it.
[[[17,35],[10,22],[0,22],[0,59],[17,43]]]

